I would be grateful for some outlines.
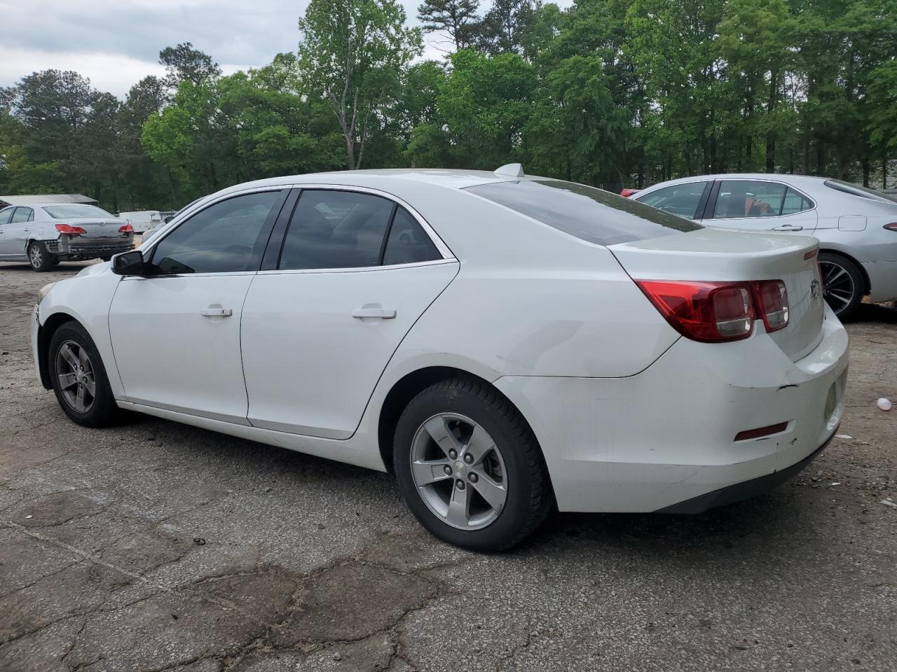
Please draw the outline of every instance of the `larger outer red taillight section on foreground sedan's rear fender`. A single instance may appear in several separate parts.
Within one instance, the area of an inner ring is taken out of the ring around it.
[[[753,332],[753,302],[745,283],[636,280],[641,291],[677,332],[718,343]]]

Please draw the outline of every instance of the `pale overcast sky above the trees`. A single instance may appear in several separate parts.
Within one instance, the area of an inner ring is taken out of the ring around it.
[[[555,0],[557,1],[557,0]],[[402,0],[416,25],[420,0]],[[159,51],[192,42],[225,74],[266,65],[295,51],[296,21],[309,0],[0,0],[0,86],[37,70],[74,70],[124,98],[148,74],[161,74]],[[483,5],[488,0],[483,0]],[[561,0],[569,6],[572,0]],[[424,56],[440,57],[440,39]]]

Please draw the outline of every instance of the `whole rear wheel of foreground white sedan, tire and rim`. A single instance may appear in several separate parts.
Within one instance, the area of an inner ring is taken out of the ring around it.
[[[473,378],[441,381],[414,397],[396,426],[393,463],[417,520],[458,547],[512,547],[536,530],[553,504],[542,451],[527,421]]]

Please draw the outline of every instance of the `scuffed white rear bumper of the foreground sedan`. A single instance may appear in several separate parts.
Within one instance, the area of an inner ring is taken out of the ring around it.
[[[823,338],[792,362],[760,332],[680,339],[627,378],[505,376],[496,386],[542,446],[558,507],[656,512],[805,461],[840,423],[848,337],[826,308]],[[775,435],[739,432],[787,423]],[[710,497],[713,500],[714,497]]]

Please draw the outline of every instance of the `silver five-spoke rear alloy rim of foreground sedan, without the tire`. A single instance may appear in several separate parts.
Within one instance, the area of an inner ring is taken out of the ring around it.
[[[458,530],[481,530],[499,517],[507,473],[492,436],[471,418],[440,413],[414,434],[414,487],[432,513]]]

